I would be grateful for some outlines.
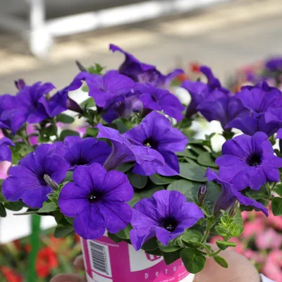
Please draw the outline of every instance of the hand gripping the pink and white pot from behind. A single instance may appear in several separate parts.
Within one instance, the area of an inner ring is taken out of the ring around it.
[[[216,247],[212,246],[214,250]],[[228,262],[228,269],[219,266],[214,259],[207,259],[204,269],[195,276],[194,282],[259,282],[259,273],[255,266],[243,255],[231,250],[221,252],[221,257]],[[84,269],[83,257],[75,259],[75,267]],[[50,282],[85,282],[86,279],[78,274],[59,274]]]

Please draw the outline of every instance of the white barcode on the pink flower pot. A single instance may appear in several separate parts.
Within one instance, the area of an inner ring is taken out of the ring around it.
[[[99,274],[111,277],[109,247],[93,241],[88,242],[90,243],[92,269]]]

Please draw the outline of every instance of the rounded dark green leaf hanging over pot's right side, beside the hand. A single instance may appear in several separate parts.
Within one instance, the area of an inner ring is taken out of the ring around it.
[[[185,248],[180,252],[180,257],[185,265],[185,269],[191,274],[197,274],[206,265],[206,258],[194,249]]]

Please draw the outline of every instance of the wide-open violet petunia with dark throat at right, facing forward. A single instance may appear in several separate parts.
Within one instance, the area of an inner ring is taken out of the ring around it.
[[[278,168],[282,167],[282,159],[274,155],[267,135],[257,132],[253,136],[239,135],[227,140],[216,164],[221,179],[233,184],[236,190],[248,186],[259,190],[267,181],[279,180]]]

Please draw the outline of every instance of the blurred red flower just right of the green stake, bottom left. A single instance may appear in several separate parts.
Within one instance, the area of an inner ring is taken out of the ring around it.
[[[51,249],[51,247],[43,247],[39,250],[35,266],[38,277],[47,277],[50,274],[51,269],[56,269],[58,265],[59,262],[56,257],[56,253]]]

